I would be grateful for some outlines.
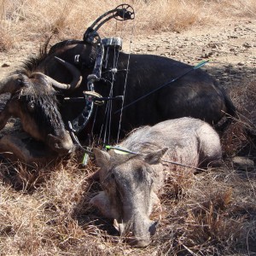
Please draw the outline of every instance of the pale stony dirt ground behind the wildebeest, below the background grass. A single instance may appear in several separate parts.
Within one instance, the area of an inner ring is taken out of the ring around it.
[[[0,78],[19,67],[28,55],[37,54],[39,46],[39,43],[20,42],[16,49],[0,52]],[[124,42],[125,51],[129,48],[128,42]],[[210,59],[205,69],[221,84],[227,88],[242,86],[242,79],[255,78],[256,19],[226,20],[183,32],[135,35],[131,52],[165,55],[190,65]]]

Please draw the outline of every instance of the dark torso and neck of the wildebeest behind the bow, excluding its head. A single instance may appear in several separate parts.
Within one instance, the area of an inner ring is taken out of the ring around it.
[[[52,50],[53,55],[73,63],[73,56],[80,54],[80,58],[84,60],[82,74],[85,84],[86,78],[91,73],[91,67],[93,67],[96,59],[95,49],[86,44],[70,44],[64,49],[56,47]],[[90,61],[88,59],[89,55]],[[109,70],[114,67],[112,56],[113,53],[110,52],[108,67],[102,69],[102,78],[110,81],[112,80],[112,73]],[[49,74],[50,77],[62,83],[67,83],[68,78],[65,78],[63,70],[61,71],[63,67],[58,67],[56,71],[55,61],[52,61],[52,58],[52,55],[50,55],[44,61],[47,63],[47,65],[43,63],[44,67],[46,67],[44,73]],[[127,66],[128,59],[130,61],[129,67]],[[192,67],[163,56],[128,55],[120,52],[117,64],[118,72],[115,74],[113,82],[113,96],[124,94],[126,68],[129,68],[129,73],[124,105],[186,73]],[[78,90],[73,91],[72,96],[81,96],[81,91],[84,89],[84,86],[80,86]],[[95,90],[102,96],[108,96],[110,84],[103,83],[102,81],[97,82]],[[67,94],[70,96],[68,91]],[[64,107],[62,109],[62,117],[67,122],[68,119],[73,119],[81,113],[84,106],[81,103],[70,102],[62,105],[62,107]],[[121,102],[113,101],[113,113],[120,108]],[[182,79],[178,79],[173,84],[167,85],[165,88],[126,108],[122,115],[121,130],[125,131],[123,133],[125,135],[127,131],[131,131],[140,125],[154,125],[166,119],[175,119],[183,116],[203,119],[210,124],[216,124],[224,116],[224,113],[233,115],[234,110],[235,108],[224,89],[205,71],[196,69]],[[98,108],[98,111],[100,113],[96,117],[96,133],[99,133],[102,127],[105,108]],[[116,136],[118,127],[119,113],[112,115],[111,131],[113,137]]]

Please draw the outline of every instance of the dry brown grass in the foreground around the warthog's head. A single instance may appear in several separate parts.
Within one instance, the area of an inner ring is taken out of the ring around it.
[[[81,159],[81,155],[78,156]],[[149,247],[129,247],[111,220],[90,207],[100,186],[79,160],[38,167],[9,167],[0,184],[1,255],[229,255],[255,252],[255,172],[222,168],[166,176],[162,222]],[[20,171],[21,170],[21,171]],[[255,170],[254,170],[255,171]],[[22,186],[15,186],[20,183]],[[16,183],[15,183],[16,182]]]

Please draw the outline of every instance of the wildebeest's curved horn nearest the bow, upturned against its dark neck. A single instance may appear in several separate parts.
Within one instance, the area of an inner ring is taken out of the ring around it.
[[[74,90],[79,87],[79,85],[82,82],[83,77],[81,76],[81,73],[78,68],[74,67],[72,64],[68,63],[67,61],[63,61],[60,58],[55,56],[55,59],[61,63],[64,67],[67,67],[67,69],[70,71],[70,73],[73,74],[73,81],[70,84],[62,84],[55,79],[51,79],[48,76],[45,76],[45,79],[48,80],[50,84],[55,86],[56,88],[63,89],[63,90]]]

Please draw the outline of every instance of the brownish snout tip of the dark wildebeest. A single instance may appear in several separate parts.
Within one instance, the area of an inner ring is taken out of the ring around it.
[[[63,132],[61,136],[48,135],[47,144],[60,156],[71,154],[73,152],[73,141],[68,131]]]

